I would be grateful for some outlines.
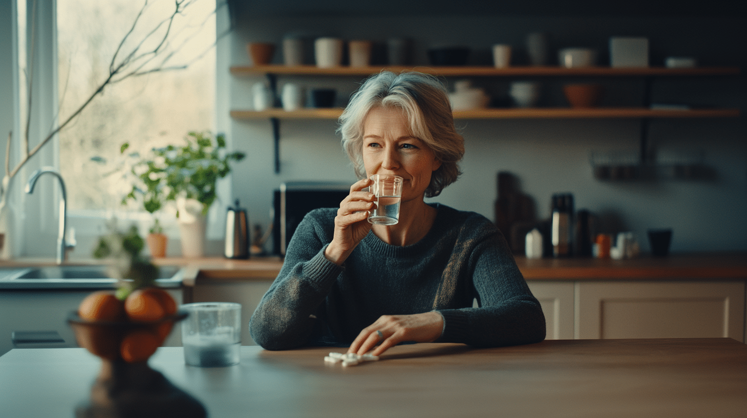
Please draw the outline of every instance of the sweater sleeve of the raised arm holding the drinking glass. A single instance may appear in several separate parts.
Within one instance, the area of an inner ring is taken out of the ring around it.
[[[249,334],[264,349],[305,346],[314,313],[323,304],[342,267],[324,257],[323,228],[307,215],[294,233],[278,277],[249,320]]]

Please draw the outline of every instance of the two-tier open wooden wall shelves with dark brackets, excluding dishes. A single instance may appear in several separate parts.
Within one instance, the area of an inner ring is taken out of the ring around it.
[[[652,161],[648,155],[648,121],[657,118],[713,118],[713,117],[738,117],[740,110],[734,108],[652,108],[651,84],[655,78],[661,77],[704,77],[704,76],[727,76],[739,75],[737,67],[701,67],[701,68],[610,68],[610,67],[583,67],[563,68],[555,66],[513,66],[508,68],[494,68],[489,66],[376,66],[376,67],[347,67],[318,68],[317,66],[232,66],[231,73],[235,76],[264,75],[270,81],[270,88],[276,91],[278,75],[326,75],[326,76],[356,76],[366,77],[376,74],[383,69],[393,72],[403,70],[417,70],[433,75],[444,77],[532,77],[532,78],[642,78],[644,83],[644,99],[640,107],[531,107],[531,108],[487,108],[476,110],[455,111],[455,119],[614,119],[635,118],[641,119],[640,137],[640,169],[636,169],[636,175],[650,175],[656,172],[651,169]],[[270,119],[273,125],[273,139],[275,150],[275,172],[280,171],[279,162],[279,121],[282,119],[337,119],[342,113],[339,108],[313,108],[285,111],[280,108],[267,110],[231,110],[234,119]],[[642,174],[637,174],[642,173]]]

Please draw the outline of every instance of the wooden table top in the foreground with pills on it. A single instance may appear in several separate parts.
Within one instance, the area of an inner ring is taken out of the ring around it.
[[[308,348],[241,347],[241,364],[185,366],[164,347],[154,369],[210,417],[745,417],[747,346],[728,338],[546,340],[471,349],[397,346],[342,367]],[[70,417],[99,360],[83,349],[14,349],[0,357],[3,417]]]

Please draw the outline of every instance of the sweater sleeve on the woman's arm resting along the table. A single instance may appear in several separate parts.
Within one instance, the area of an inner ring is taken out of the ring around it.
[[[545,315],[495,231],[474,247],[468,262],[479,308],[445,309],[439,341],[472,346],[515,346],[545,339]]]

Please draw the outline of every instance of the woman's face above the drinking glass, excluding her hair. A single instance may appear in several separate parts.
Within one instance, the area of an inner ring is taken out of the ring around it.
[[[404,178],[402,201],[408,202],[423,199],[430,176],[441,161],[412,136],[401,110],[374,107],[363,122],[363,165],[368,177],[393,174]]]

